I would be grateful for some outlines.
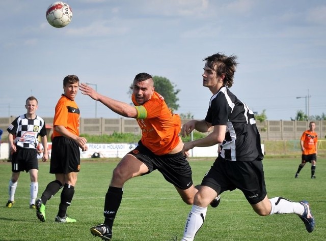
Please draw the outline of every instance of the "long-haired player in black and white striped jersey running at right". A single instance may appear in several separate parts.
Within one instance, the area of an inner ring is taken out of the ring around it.
[[[315,220],[307,201],[292,202],[283,197],[268,199],[263,171],[263,154],[254,113],[230,92],[237,56],[216,53],[204,58],[203,86],[213,94],[205,119],[182,126],[181,135],[194,129],[209,132],[206,137],[184,143],[182,152],[220,143],[221,152],[204,176],[187,216],[181,241],[192,241],[202,227],[207,205],[225,191],[239,189],[260,216],[296,214],[312,232]]]

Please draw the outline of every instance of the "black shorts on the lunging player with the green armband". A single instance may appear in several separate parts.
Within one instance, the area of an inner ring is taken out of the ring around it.
[[[146,174],[158,170],[174,186],[185,190],[193,185],[192,169],[181,152],[176,154],[155,155],[142,142],[128,154],[142,161],[149,169]]]

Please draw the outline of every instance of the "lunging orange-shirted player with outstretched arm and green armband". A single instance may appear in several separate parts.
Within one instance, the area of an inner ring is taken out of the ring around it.
[[[125,155],[113,171],[110,186],[105,195],[104,223],[91,228],[91,233],[110,240],[112,226],[118,212],[124,183],[135,176],[158,170],[174,185],[182,200],[192,204],[197,189],[194,188],[192,170],[181,153],[181,120],[170,111],[164,98],[154,91],[154,81],[147,73],[140,73],[133,80],[132,102],[134,106],[102,96],[87,84],[79,87],[82,94],[110,108],[112,111],[137,119],[142,130],[138,146]]]

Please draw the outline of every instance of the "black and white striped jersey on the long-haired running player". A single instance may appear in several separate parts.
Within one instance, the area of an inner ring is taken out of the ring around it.
[[[263,159],[254,113],[227,87],[222,86],[211,97],[205,120],[212,126],[226,126],[225,139],[220,144],[222,158],[242,162]]]

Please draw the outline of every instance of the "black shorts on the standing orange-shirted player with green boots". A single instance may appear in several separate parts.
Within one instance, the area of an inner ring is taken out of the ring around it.
[[[50,173],[79,172],[80,151],[72,139],[59,136],[52,140]]]

